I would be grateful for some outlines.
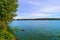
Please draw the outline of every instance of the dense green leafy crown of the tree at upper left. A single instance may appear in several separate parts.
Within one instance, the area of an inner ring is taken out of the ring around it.
[[[0,20],[12,21],[16,16],[17,0],[0,0]]]

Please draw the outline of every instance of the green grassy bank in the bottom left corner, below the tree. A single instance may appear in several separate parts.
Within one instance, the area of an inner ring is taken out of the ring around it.
[[[7,30],[0,29],[0,40],[16,40],[16,36],[10,27]]]

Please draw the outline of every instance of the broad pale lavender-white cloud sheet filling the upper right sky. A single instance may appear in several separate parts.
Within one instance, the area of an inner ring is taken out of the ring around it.
[[[46,0],[46,1],[33,1],[33,0],[25,0],[25,3],[29,5],[34,5],[33,12],[37,13],[48,13],[48,12],[60,12],[60,1],[59,0]]]

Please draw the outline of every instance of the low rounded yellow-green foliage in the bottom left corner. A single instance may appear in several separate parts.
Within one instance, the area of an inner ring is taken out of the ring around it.
[[[15,36],[8,32],[8,31],[4,31],[4,30],[0,30],[0,40],[15,40]]]

